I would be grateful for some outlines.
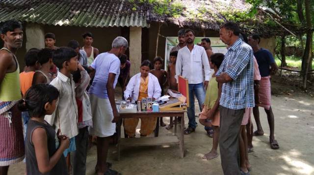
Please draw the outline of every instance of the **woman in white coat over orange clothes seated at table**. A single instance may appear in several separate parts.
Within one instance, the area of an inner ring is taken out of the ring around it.
[[[161,88],[157,77],[149,73],[151,62],[144,60],[140,67],[140,73],[134,75],[124,91],[124,98],[130,101],[142,100],[142,98],[152,97],[153,101],[160,97]],[[135,137],[135,129],[138,118],[125,118],[124,129],[129,137]],[[156,117],[141,118],[141,136],[151,134],[156,127]]]

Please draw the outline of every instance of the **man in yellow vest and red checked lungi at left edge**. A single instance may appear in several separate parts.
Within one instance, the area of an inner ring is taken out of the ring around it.
[[[9,165],[24,159],[24,138],[21,111],[20,68],[16,51],[22,47],[23,27],[19,22],[2,24],[0,37],[0,175],[7,175]]]

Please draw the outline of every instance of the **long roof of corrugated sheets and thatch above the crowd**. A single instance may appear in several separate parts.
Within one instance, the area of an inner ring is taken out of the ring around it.
[[[84,27],[150,27],[151,22],[166,22],[218,31],[223,22],[234,20],[248,33],[264,37],[285,33],[262,11],[249,17],[250,8],[244,0],[0,0],[0,22]]]

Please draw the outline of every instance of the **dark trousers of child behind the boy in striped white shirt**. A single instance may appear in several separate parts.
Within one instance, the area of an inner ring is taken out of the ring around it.
[[[77,150],[71,152],[71,164],[73,165],[72,175],[86,174],[86,155],[88,149],[88,127],[79,129],[75,136]]]

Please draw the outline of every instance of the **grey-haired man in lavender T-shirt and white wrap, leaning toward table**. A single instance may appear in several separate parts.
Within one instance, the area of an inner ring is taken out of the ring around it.
[[[93,128],[90,132],[97,136],[98,175],[116,175],[118,172],[109,169],[106,164],[110,136],[116,132],[119,113],[114,101],[114,88],[120,74],[121,55],[128,49],[128,41],[117,37],[112,42],[109,52],[99,54],[89,66],[95,71],[94,81],[89,88],[90,103],[93,116]]]

